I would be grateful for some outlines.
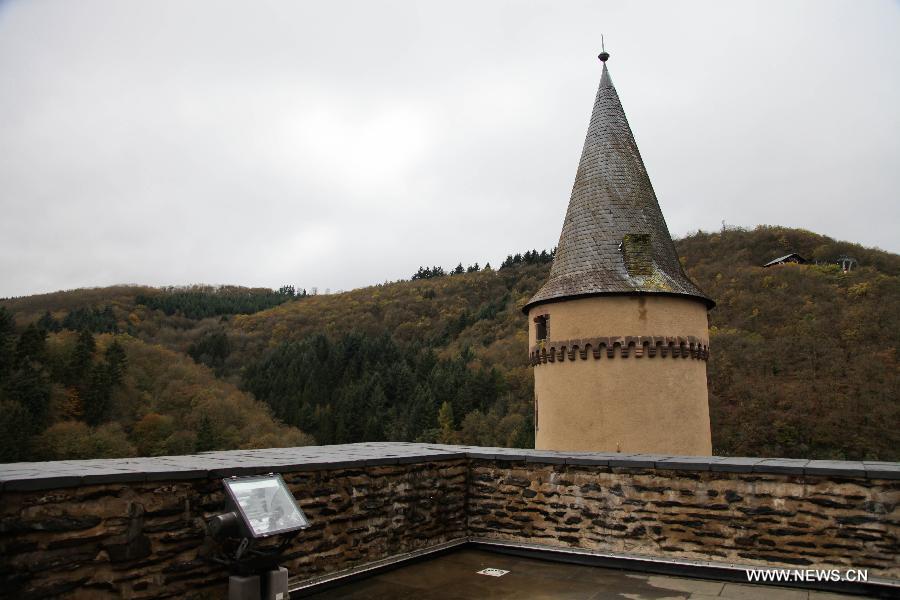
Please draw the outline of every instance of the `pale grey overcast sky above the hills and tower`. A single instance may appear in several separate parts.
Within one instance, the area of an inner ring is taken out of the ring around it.
[[[0,2],[0,296],[556,244],[600,78],[673,235],[900,251],[900,4]]]

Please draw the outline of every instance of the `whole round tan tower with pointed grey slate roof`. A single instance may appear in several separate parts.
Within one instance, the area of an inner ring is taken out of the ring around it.
[[[535,445],[709,455],[714,303],[681,268],[608,58],[550,278],[523,309]]]

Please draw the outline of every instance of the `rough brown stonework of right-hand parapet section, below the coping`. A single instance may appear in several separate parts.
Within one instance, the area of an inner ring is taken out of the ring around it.
[[[469,481],[473,538],[900,577],[897,480],[473,460]]]

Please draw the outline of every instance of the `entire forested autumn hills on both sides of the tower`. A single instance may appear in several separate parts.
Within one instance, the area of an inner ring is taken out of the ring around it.
[[[676,243],[718,303],[715,453],[900,459],[900,256],[779,227]],[[761,268],[789,252],[819,264]],[[842,254],[858,267],[843,273]],[[3,460],[313,440],[529,446],[520,309],[551,258],[422,267],[335,295],[120,286],[0,301],[0,434],[18,436]]]

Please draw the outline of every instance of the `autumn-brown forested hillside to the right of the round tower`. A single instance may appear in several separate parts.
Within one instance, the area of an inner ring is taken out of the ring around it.
[[[679,240],[710,313],[720,454],[900,459],[900,256],[797,229]],[[819,264],[759,265],[798,252]],[[840,255],[859,261],[843,273]]]

